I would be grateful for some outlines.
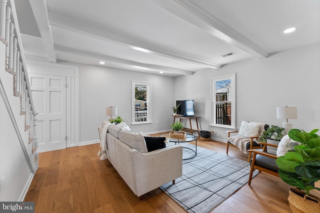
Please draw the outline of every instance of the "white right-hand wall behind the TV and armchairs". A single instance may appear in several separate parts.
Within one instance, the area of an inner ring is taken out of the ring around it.
[[[208,126],[209,79],[230,73],[236,73],[237,128],[242,120],[281,126],[285,120],[276,119],[276,107],[287,105],[297,107],[298,119],[289,120],[293,128],[320,129],[320,43],[176,77],[174,99],[194,99],[201,130],[213,130],[212,138],[220,141],[225,141],[225,131],[230,129]]]

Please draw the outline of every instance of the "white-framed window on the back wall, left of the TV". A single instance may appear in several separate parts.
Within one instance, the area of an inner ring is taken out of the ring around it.
[[[151,122],[151,83],[132,80],[132,124]]]

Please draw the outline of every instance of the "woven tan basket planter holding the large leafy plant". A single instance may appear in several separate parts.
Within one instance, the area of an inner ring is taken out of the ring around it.
[[[292,213],[320,213],[320,199],[312,195],[304,199],[303,191],[290,189],[288,201]]]

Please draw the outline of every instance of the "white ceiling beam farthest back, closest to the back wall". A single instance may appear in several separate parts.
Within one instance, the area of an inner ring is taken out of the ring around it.
[[[110,62],[114,62],[114,63],[130,65],[130,66],[144,67],[144,68],[157,70],[157,71],[164,71],[164,72],[168,72],[171,74],[192,75],[194,73],[191,71],[185,71],[185,70],[181,70],[181,69],[174,69],[174,68],[158,66],[158,65],[153,65],[153,64],[139,63],[139,62],[135,62],[135,61],[125,60],[125,59],[116,58],[116,57],[112,57],[112,56],[108,56],[108,55],[102,55],[102,54],[98,54],[98,53],[94,53],[94,52],[88,52],[88,51],[68,48],[68,47],[59,46],[59,45],[54,45],[54,50],[58,51],[58,52],[73,54],[73,55],[80,55],[80,56],[84,56],[84,57],[100,59],[103,61],[110,61]],[[132,67],[132,69],[133,69],[133,67]]]

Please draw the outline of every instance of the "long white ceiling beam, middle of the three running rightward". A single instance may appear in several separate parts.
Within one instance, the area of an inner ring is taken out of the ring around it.
[[[143,49],[150,50],[151,54],[160,55],[163,57],[167,57],[167,58],[171,58],[171,59],[175,59],[183,62],[188,62],[196,65],[201,65],[203,67],[215,68],[215,69],[221,68],[220,64],[216,64],[210,61],[201,60],[199,58],[179,54],[177,52],[163,49],[161,47],[157,47],[151,44],[146,44],[145,42],[142,42],[142,41],[133,40],[123,34],[105,30],[100,27],[79,22],[77,20],[66,18],[51,12],[48,13],[48,20],[49,20],[49,24],[53,26],[57,26],[73,32],[85,34],[85,35],[94,37],[96,39],[106,40],[108,42],[125,45],[130,48],[132,46],[140,47]]]

